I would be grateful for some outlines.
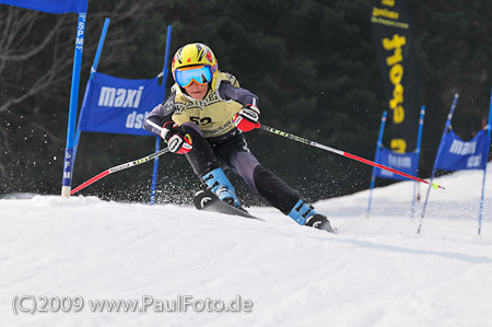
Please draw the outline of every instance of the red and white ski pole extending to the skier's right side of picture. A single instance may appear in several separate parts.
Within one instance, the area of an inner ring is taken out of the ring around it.
[[[385,165],[375,163],[375,162],[373,162],[373,161],[371,161],[371,160],[363,159],[363,157],[361,157],[361,156],[356,156],[356,155],[354,155],[354,154],[350,154],[350,153],[347,153],[347,152],[344,152],[344,151],[337,150],[337,149],[335,149],[335,148],[330,148],[330,147],[327,147],[327,145],[323,145],[323,144],[316,143],[316,142],[314,142],[314,141],[311,141],[311,140],[307,140],[307,139],[304,139],[304,138],[301,138],[301,137],[297,137],[297,136],[294,136],[294,135],[291,135],[291,133],[289,133],[289,132],[281,131],[280,129],[277,129],[277,128],[273,128],[273,127],[269,127],[269,126],[266,126],[266,125],[261,125],[259,128],[262,129],[262,130],[269,131],[269,132],[271,132],[271,133],[274,133],[274,135],[277,135],[277,136],[281,136],[281,137],[284,137],[284,138],[288,138],[288,139],[291,139],[291,140],[294,140],[294,141],[297,141],[297,142],[301,142],[301,143],[304,143],[304,144],[307,144],[307,145],[311,145],[311,147],[315,147],[315,148],[319,148],[319,149],[323,149],[323,150],[326,150],[326,151],[329,151],[329,152],[332,152],[332,153],[337,153],[337,154],[339,154],[339,155],[347,156],[347,157],[350,157],[350,159],[352,159],[352,160],[355,160],[355,161],[365,163],[365,164],[367,164],[367,165],[371,165],[371,166],[374,166],[374,167],[378,167],[378,168],[382,168],[382,170],[391,172],[391,173],[394,173],[394,174],[397,174],[397,175],[407,177],[407,178],[409,178],[409,179],[413,179],[413,180],[417,180],[417,182],[421,182],[421,183],[425,183],[425,184],[432,185],[432,187],[434,187],[435,189],[437,189],[437,188],[444,189],[444,187],[443,187],[443,186],[440,186],[437,183],[432,183],[432,184],[431,184],[431,183],[429,183],[427,180],[424,180],[424,179],[422,179],[422,178],[419,178],[419,177],[409,175],[409,174],[407,174],[407,173],[403,173],[403,172],[394,170],[394,168],[391,168],[391,167],[388,167],[388,166],[385,166]]]

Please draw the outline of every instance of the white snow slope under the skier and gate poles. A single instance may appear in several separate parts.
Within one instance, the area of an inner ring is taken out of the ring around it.
[[[410,182],[376,189],[370,218],[368,191],[316,203],[339,235],[272,208],[250,209],[262,222],[82,196],[3,199],[0,326],[492,326],[492,178],[478,236],[481,178],[440,178],[446,190],[431,192],[421,234],[419,218],[408,215]],[[84,307],[14,314],[20,295],[82,296]],[[254,305],[241,313],[89,305],[145,295],[241,295]]]

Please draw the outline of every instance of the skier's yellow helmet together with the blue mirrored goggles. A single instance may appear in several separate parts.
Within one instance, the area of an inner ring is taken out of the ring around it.
[[[212,50],[201,43],[191,43],[179,48],[171,67],[174,81],[180,87],[187,87],[194,81],[215,87],[219,66]]]

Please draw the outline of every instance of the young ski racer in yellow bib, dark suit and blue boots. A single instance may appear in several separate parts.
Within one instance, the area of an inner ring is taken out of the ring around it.
[[[194,43],[178,49],[172,72],[176,83],[147,117],[147,130],[161,136],[171,152],[185,154],[195,174],[222,201],[244,210],[224,174],[230,168],[298,224],[333,232],[325,215],[250,153],[244,132],[260,126],[258,97],[219,70],[208,46]]]

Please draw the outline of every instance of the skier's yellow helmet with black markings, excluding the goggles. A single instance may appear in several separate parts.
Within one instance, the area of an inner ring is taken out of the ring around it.
[[[183,85],[183,83],[179,82],[179,75],[177,75],[177,72],[185,71],[188,68],[194,67],[204,67],[207,69],[210,69],[212,82],[211,86],[212,89],[214,89],[216,83],[216,75],[219,73],[219,66],[213,51],[204,44],[187,44],[186,46],[179,48],[174,55],[171,71],[173,72],[174,80],[176,81],[176,83],[178,83],[179,86],[186,85]],[[197,82],[201,81],[197,80]],[[203,80],[203,82],[206,81]],[[207,83],[210,83],[210,81],[207,81]]]

